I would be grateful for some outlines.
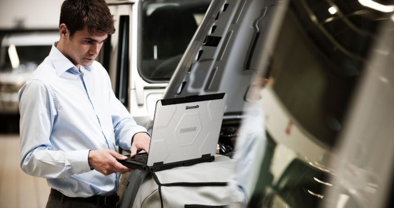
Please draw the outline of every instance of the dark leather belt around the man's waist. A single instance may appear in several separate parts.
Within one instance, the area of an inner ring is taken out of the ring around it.
[[[53,196],[56,199],[62,200],[63,201],[73,201],[73,202],[84,202],[84,203],[91,203],[95,204],[98,206],[101,205],[116,205],[116,203],[119,201],[119,196],[117,194],[112,195],[112,196],[100,196],[100,195],[95,195],[91,197],[68,197],[64,194],[62,194],[60,191],[55,190],[51,188],[51,193],[49,194],[50,196]]]

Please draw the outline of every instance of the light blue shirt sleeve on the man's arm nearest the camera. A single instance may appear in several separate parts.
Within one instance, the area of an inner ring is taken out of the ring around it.
[[[19,91],[22,170],[42,178],[63,178],[90,171],[89,150],[54,151],[50,141],[57,116],[50,88],[40,80],[28,81]]]

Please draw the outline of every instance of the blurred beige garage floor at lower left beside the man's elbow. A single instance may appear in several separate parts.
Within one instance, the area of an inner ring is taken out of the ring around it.
[[[19,157],[19,135],[0,134],[0,208],[44,208],[50,188],[24,173]]]

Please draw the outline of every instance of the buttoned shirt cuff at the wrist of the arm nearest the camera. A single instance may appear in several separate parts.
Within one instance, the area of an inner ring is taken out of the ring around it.
[[[91,171],[88,156],[90,150],[76,150],[68,153],[67,160],[75,174]]]

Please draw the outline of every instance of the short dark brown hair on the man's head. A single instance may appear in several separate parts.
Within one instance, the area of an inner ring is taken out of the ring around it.
[[[70,36],[87,26],[90,34],[115,32],[114,19],[105,0],[65,0],[60,23],[66,24]]]

